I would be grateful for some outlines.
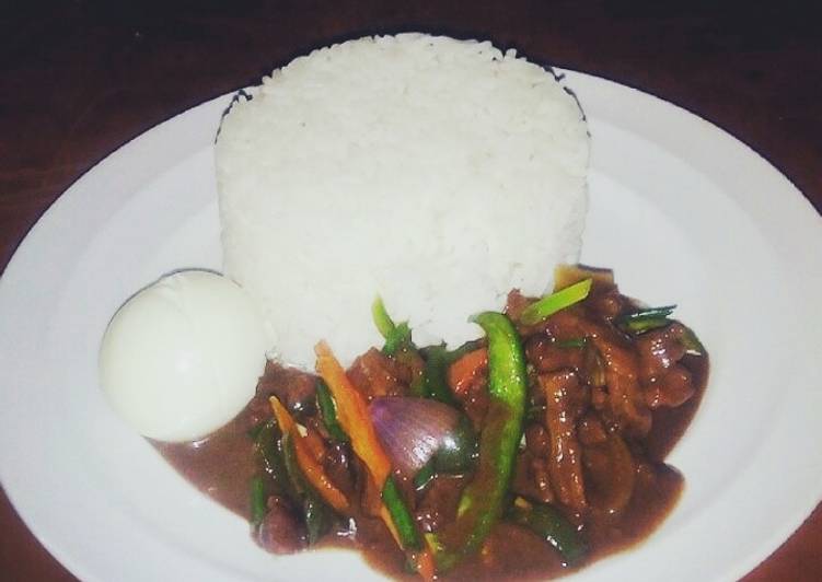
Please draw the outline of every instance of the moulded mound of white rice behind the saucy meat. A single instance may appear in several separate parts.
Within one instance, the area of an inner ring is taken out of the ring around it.
[[[420,344],[576,260],[589,138],[545,69],[489,43],[368,37],[276,70],[217,142],[224,271],[288,362],[329,341],[345,363],[381,338],[380,294]]]

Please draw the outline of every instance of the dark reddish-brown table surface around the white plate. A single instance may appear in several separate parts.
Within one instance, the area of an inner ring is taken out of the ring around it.
[[[671,101],[759,151],[822,209],[822,9],[814,2],[16,4],[0,16],[0,267],[55,198],[127,140],[312,47],[408,30],[490,38]],[[73,580],[4,493],[0,531],[4,580]],[[818,508],[745,580],[820,578]]]

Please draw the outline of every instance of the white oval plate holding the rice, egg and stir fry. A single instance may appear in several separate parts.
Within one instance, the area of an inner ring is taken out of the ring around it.
[[[580,580],[744,574],[822,493],[822,221],[794,186],[678,107],[569,72],[593,137],[583,259],[676,302],[713,356],[670,456],[686,489],[663,526]],[[354,554],[275,558],[108,409],[97,346],[161,273],[219,268],[212,142],[221,97],[162,124],[77,182],[0,283],[0,477],[43,544],[85,580],[358,579]],[[547,266],[546,266],[547,268]],[[363,322],[363,325],[369,325]]]

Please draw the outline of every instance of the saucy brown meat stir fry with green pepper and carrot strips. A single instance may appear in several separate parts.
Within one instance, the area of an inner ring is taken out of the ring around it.
[[[231,424],[158,446],[271,552],[352,546],[425,579],[583,566],[675,503],[682,477],[663,461],[707,354],[673,306],[640,307],[610,271],[556,280],[540,300],[511,291],[456,350],[416,346],[378,301],[381,349],[344,371],[321,342],[317,375],[269,362]]]

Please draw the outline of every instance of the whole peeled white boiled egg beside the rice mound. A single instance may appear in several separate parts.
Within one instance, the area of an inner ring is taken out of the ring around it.
[[[100,380],[112,407],[140,434],[195,441],[254,396],[268,347],[240,286],[210,271],[177,271],[115,313],[100,350]]]

